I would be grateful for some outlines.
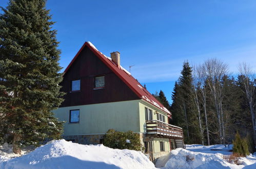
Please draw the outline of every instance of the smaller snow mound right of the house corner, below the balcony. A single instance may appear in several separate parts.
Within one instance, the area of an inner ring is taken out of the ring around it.
[[[164,166],[163,166],[164,164]],[[156,162],[157,167],[163,168],[242,168],[244,165],[235,165],[226,162],[223,154],[207,154],[191,152],[185,149],[175,149]]]

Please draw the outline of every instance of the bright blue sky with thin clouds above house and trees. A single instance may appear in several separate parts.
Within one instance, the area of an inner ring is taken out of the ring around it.
[[[7,0],[1,0],[5,7]],[[256,70],[256,1],[48,0],[67,67],[85,41],[102,53],[121,53],[121,65],[151,93],[169,101],[182,63],[216,57],[237,73],[239,62]]]

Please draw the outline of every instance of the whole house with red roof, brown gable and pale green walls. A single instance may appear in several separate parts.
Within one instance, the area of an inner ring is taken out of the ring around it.
[[[109,129],[133,131],[152,160],[184,147],[182,128],[168,124],[171,113],[120,65],[119,52],[107,57],[86,42],[61,86],[67,94],[54,114],[66,121],[66,140],[99,144]]]

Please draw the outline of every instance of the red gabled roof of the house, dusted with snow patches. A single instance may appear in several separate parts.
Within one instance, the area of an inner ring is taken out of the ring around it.
[[[152,96],[145,88],[141,86],[141,84],[133,78],[129,72],[127,72],[125,69],[121,67],[118,68],[114,62],[111,61],[111,58],[105,56],[102,54],[99,50],[97,50],[89,41],[84,43],[82,48],[77,52],[75,57],[72,59],[68,67],[65,69],[64,73],[66,73],[71,65],[73,64],[74,60],[78,57],[78,55],[81,53],[81,51],[84,49],[84,47],[87,46],[97,57],[99,57],[105,65],[109,69],[111,69],[119,78],[121,78],[126,85],[141,99],[146,100],[147,102],[153,104],[156,108],[159,108],[163,110],[164,112],[168,113],[171,116],[171,113],[158,101]]]

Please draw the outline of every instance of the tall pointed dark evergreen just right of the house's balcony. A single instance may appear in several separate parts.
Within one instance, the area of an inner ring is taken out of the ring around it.
[[[172,95],[171,112],[173,114],[173,121],[174,119],[178,120],[175,124],[183,128],[186,142],[195,143],[200,142],[200,132],[198,124],[195,122],[196,117],[193,113],[193,108],[191,107],[191,93],[192,68],[189,62],[185,61],[178,83],[175,84],[175,95]]]

